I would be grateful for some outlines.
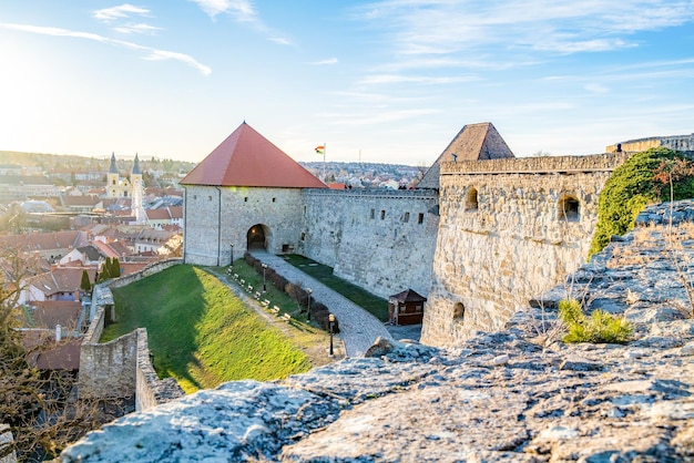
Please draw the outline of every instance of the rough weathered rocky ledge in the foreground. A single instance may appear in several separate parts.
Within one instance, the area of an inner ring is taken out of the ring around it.
[[[367,358],[284,381],[229,382],[124,416],[60,460],[694,461],[690,229],[641,220],[506,331],[457,349],[382,341]],[[633,339],[559,341],[554,307],[565,297],[623,315]]]

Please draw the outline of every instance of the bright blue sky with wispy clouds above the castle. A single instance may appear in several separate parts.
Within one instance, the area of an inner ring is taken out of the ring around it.
[[[0,150],[198,162],[243,121],[297,161],[428,165],[694,132],[694,1],[4,0]]]

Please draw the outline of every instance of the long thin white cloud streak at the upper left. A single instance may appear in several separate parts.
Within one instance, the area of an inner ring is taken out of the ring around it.
[[[109,43],[113,45],[125,47],[131,50],[144,51],[147,54],[144,56],[145,60],[175,60],[181,61],[185,64],[188,64],[195,69],[197,69],[202,74],[210,75],[212,73],[212,69],[206,66],[205,64],[200,63],[193,56],[166,50],[159,50],[151,47],[140,45],[133,42],[126,42],[124,40],[115,40],[109,39],[103,35],[90,33],[90,32],[79,32],[79,31],[70,31],[67,29],[60,28],[51,28],[51,27],[42,27],[42,25],[32,25],[32,24],[9,24],[9,23],[0,23],[0,28],[12,29],[23,32],[38,33],[42,35],[53,35],[53,37],[73,37],[79,39],[94,40],[101,43]]]

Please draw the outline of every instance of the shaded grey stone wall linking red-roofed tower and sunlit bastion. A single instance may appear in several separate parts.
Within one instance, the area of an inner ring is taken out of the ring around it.
[[[335,275],[388,297],[426,296],[439,226],[435,191],[305,191],[298,250]]]

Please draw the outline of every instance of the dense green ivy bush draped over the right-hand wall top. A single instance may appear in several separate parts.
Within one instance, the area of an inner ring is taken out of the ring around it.
[[[670,185],[655,179],[662,161],[683,158],[682,153],[657,147],[634,154],[615,168],[598,199],[598,224],[589,257],[600,253],[612,235],[624,235],[634,227],[643,208],[655,202],[670,200]],[[694,197],[694,178],[673,179],[674,199]]]

